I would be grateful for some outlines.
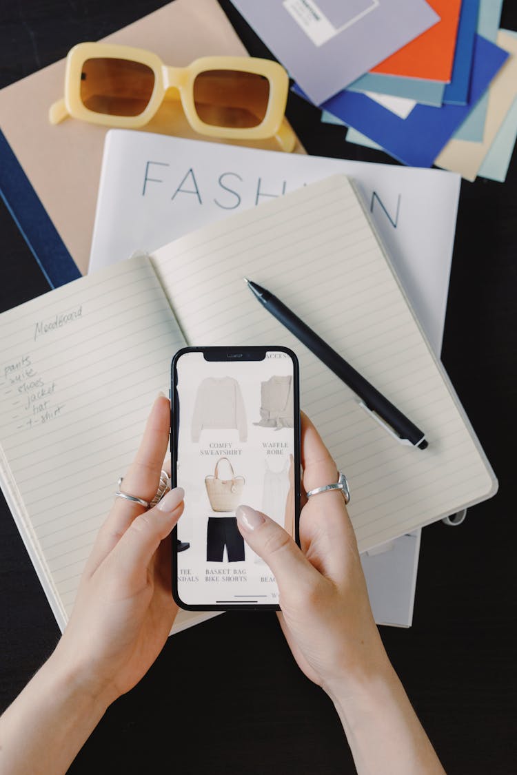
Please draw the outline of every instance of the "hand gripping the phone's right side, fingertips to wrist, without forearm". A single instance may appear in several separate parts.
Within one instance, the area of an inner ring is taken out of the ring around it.
[[[336,482],[336,463],[312,422],[302,415],[303,487]],[[300,549],[271,518],[241,506],[237,522],[246,542],[271,568],[280,592],[279,619],[305,675],[329,694],[362,683],[388,663],[368,600],[345,500],[340,491],[306,499]]]

